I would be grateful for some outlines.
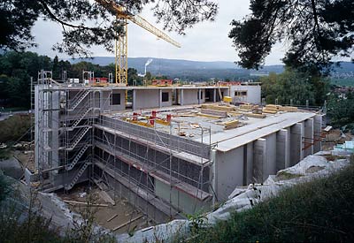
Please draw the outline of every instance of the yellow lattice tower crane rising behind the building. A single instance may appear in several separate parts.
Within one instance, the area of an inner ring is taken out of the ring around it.
[[[180,43],[173,41],[167,34],[159,30],[157,27],[151,25],[147,20],[142,19],[139,15],[134,15],[127,11],[124,6],[121,6],[113,0],[96,0],[98,4],[102,4],[105,8],[112,11],[116,15],[117,19],[120,19],[123,25],[123,31],[119,34],[118,40],[115,43],[115,65],[116,65],[116,84],[127,85],[127,21],[135,23],[139,27],[142,27],[149,31],[151,34],[155,34],[158,38],[165,40],[173,44],[173,46],[181,48]]]

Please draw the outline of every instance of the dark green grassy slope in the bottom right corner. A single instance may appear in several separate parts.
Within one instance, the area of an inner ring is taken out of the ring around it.
[[[187,242],[354,242],[354,163],[233,213]]]

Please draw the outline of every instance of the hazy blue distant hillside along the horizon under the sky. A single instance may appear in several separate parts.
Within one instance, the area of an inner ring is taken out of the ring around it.
[[[266,65],[256,71],[242,69],[233,62],[200,62],[154,57],[129,57],[128,66],[135,68],[139,73],[143,73],[145,64],[150,58],[153,61],[147,67],[148,72],[184,80],[207,80],[210,78],[250,80],[257,79],[258,76],[266,75],[269,72],[280,73],[284,70],[283,65]],[[96,65],[110,65],[114,63],[114,57],[70,59],[69,61],[71,63],[87,61]],[[342,63],[342,67],[335,68],[335,72],[349,72],[350,70],[354,71],[354,65],[351,63]]]

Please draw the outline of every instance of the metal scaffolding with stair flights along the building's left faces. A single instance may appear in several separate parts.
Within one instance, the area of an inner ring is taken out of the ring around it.
[[[211,145],[203,142],[204,128],[199,142],[111,118],[114,88],[64,75],[58,83],[51,72],[38,73],[35,161],[42,190],[69,191],[88,180],[158,223],[209,207]]]

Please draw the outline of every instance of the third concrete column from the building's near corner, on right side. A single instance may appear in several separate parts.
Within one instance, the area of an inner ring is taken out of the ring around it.
[[[298,163],[302,154],[302,128],[301,123],[292,125],[290,128],[290,166]]]

